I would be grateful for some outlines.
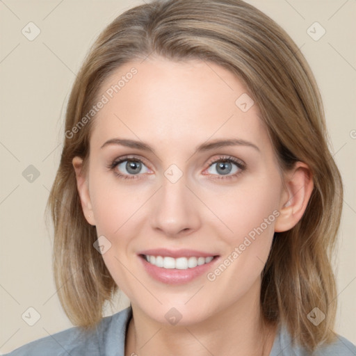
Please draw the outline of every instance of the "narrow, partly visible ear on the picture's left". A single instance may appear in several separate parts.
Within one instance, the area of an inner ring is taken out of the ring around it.
[[[95,225],[94,213],[92,211],[92,204],[90,201],[88,179],[83,174],[83,159],[75,156],[72,164],[76,174],[76,186],[78,188],[79,197],[81,199],[81,207],[84,216],[90,225]]]

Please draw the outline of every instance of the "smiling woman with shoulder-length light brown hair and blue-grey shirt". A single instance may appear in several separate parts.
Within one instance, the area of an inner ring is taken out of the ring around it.
[[[9,355],[356,355],[333,331],[342,196],[314,76],[272,19],[132,8],[77,76],[49,197],[76,327]],[[118,288],[130,307],[102,318]]]

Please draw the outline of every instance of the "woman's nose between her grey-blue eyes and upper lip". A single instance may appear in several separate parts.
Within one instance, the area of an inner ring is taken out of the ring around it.
[[[152,209],[152,228],[170,237],[186,236],[200,228],[197,198],[184,176],[172,183],[164,177]]]

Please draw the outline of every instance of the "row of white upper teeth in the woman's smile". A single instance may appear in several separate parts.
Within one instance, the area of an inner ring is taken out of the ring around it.
[[[209,257],[179,257],[174,259],[173,257],[162,256],[149,256],[145,254],[145,259],[150,264],[154,264],[157,267],[163,267],[167,269],[176,268],[178,270],[186,270],[188,268],[194,268],[201,266],[202,264],[209,264],[213,260],[213,256]]]

